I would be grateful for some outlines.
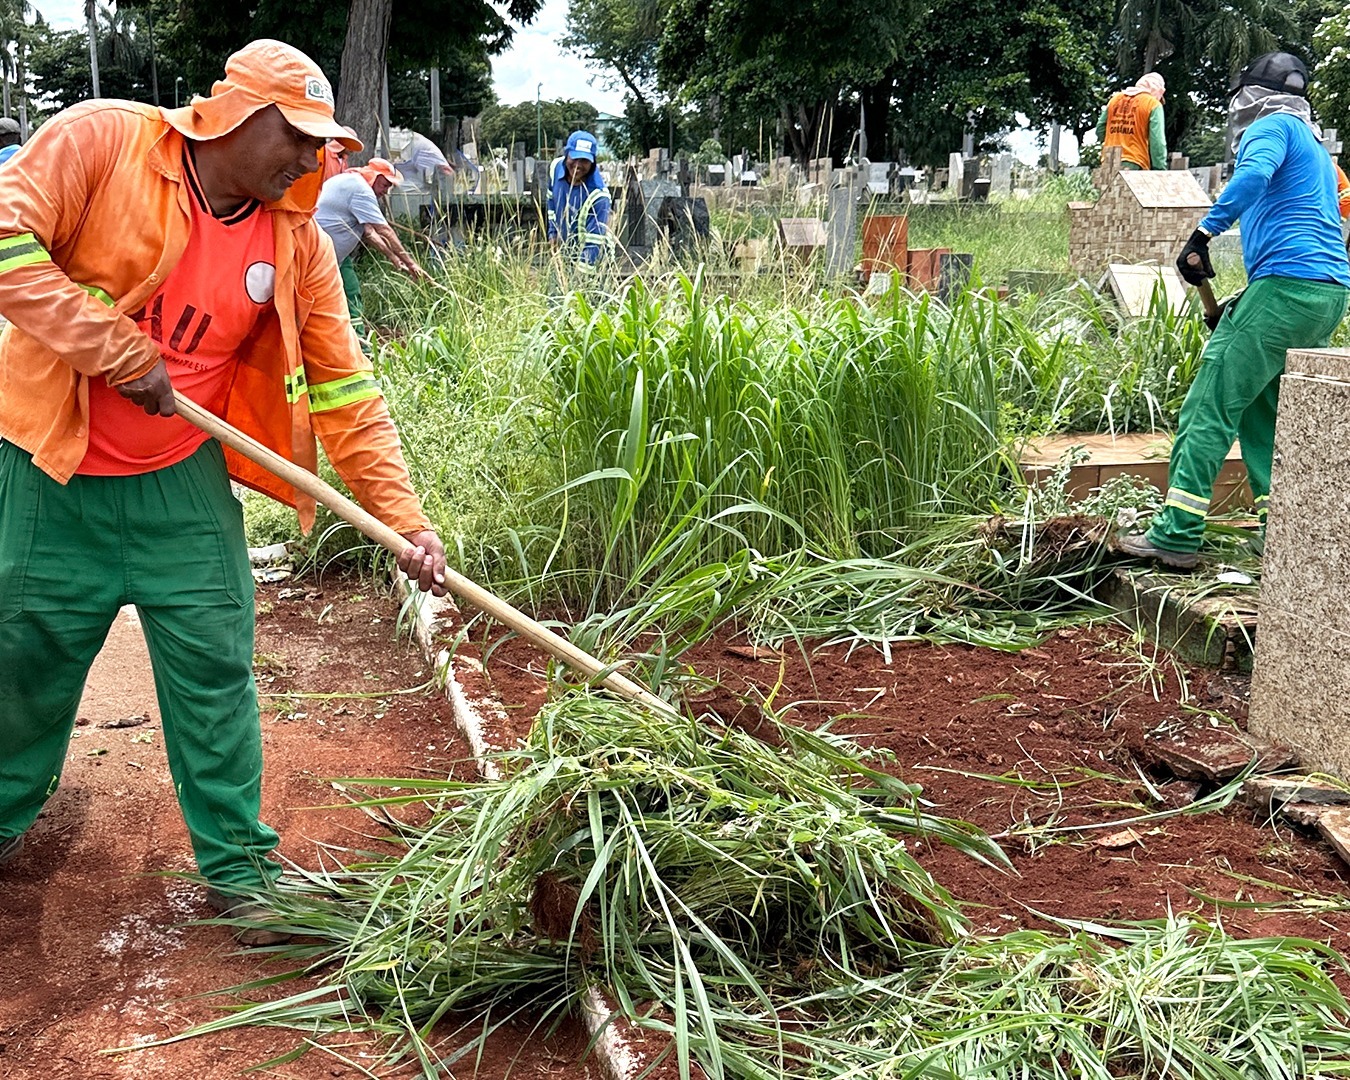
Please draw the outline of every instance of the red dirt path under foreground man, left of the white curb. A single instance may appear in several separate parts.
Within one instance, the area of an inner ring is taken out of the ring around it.
[[[316,865],[317,846],[378,845],[355,810],[310,809],[340,798],[320,778],[474,775],[468,747],[439,695],[398,694],[427,680],[421,657],[396,639],[393,601],[363,583],[259,589],[256,668],[263,698],[263,818],[281,852]],[[313,701],[286,693],[374,693]],[[387,697],[379,697],[387,695]],[[162,1048],[107,1050],[167,1037],[220,1015],[223,999],[185,1000],[277,971],[240,952],[209,918],[200,888],[165,871],[193,868],[173,798],[148,659],[119,618],[80,709],[59,791],[0,869],[0,1076],[4,1080],[216,1080],[297,1045],[294,1033],[247,1029]],[[147,717],[135,726],[103,726]],[[298,988],[305,984],[292,984]],[[578,1029],[555,1038],[495,1034],[478,1076],[593,1080]],[[363,1068],[370,1040],[331,1044]],[[262,1076],[294,1080],[373,1075],[315,1052]],[[381,1076],[396,1075],[378,1071]],[[410,1076],[405,1066],[398,1076]],[[473,1064],[455,1071],[474,1075]]]

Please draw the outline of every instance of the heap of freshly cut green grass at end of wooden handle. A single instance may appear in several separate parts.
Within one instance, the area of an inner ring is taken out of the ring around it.
[[[572,694],[505,779],[362,782],[398,788],[373,806],[432,801],[431,821],[402,856],[290,895],[288,925],[320,944],[278,952],[317,986],[196,1033],[369,1027],[435,1077],[441,1019],[543,1023],[599,984],[670,1035],[683,1077],[1350,1071],[1324,946],[1184,919],[972,938],[923,850],[1006,865],[999,849],[856,747],[776,736]]]

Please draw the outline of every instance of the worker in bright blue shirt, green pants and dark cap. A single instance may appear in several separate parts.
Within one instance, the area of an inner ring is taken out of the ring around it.
[[[1249,284],[1241,302],[1224,309],[1181,405],[1162,512],[1146,535],[1118,539],[1130,555],[1195,567],[1214,481],[1234,439],[1265,525],[1285,352],[1324,348],[1345,317],[1350,262],[1336,174],[1307,88],[1308,69],[1289,53],[1257,57],[1230,88],[1233,180],[1191,234],[1177,269],[1192,285],[1212,278],[1210,240],[1241,217]]]

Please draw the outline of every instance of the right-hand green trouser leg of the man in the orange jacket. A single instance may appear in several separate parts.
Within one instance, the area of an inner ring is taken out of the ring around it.
[[[252,679],[254,589],[243,513],[217,443],[144,477],[128,498],[153,522],[131,549],[165,749],[201,873],[256,891],[281,868],[259,821],[262,732]]]

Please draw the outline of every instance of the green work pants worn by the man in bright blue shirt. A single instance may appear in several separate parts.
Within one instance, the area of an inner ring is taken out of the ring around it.
[[[1265,522],[1274,456],[1280,377],[1291,348],[1324,348],[1346,313],[1350,290],[1324,281],[1258,278],[1223,313],[1181,404],[1168,466],[1168,498],[1149,543],[1196,551],[1214,481],[1234,439],[1242,443],[1257,513]]]

